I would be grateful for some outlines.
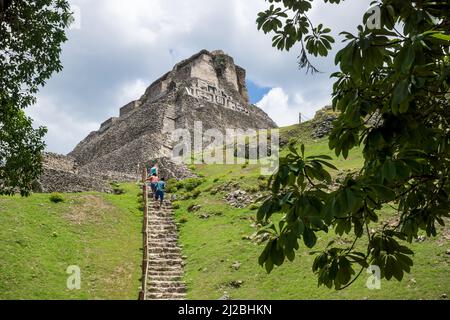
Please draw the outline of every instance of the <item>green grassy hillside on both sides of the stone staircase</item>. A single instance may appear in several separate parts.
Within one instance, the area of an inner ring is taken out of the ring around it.
[[[306,143],[310,154],[333,156],[326,139],[309,136],[310,126],[282,128],[282,138]],[[348,160],[335,159],[334,164],[341,170],[358,169],[361,152],[355,149]],[[344,291],[318,288],[313,257],[304,246],[293,263],[267,275],[257,263],[263,247],[252,240],[256,206],[238,209],[225,200],[236,190],[255,198],[264,193],[267,178],[251,165],[198,165],[195,171],[201,179],[169,185],[177,198],[190,299],[218,299],[225,292],[232,299],[261,300],[440,299],[450,293],[448,228],[436,239],[414,243],[412,273],[401,283],[383,281],[381,290],[367,289],[365,274]],[[60,204],[51,203],[46,194],[0,197],[0,299],[136,299],[142,258],[139,190],[136,185],[121,187],[123,195],[65,194]],[[386,210],[382,220],[393,214]],[[330,232],[322,234],[318,248],[331,239],[349,242]],[[70,265],[81,268],[80,291],[66,288]]]

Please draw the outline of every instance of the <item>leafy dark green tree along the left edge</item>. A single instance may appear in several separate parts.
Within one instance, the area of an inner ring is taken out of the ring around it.
[[[0,0],[0,194],[28,195],[42,171],[46,129],[34,129],[24,109],[61,71],[71,17],[66,0]]]

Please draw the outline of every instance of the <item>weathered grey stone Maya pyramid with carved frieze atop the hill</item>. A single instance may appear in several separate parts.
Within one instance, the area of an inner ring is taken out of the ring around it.
[[[140,165],[149,159],[160,159],[166,171],[163,174],[183,178],[190,173],[170,160],[171,134],[179,128],[192,130],[198,121],[203,130],[223,132],[276,127],[264,111],[249,103],[246,71],[223,51],[202,50],[176,64],[151,84],[139,100],[122,107],[118,117],[106,120],[66,159],[58,156],[55,160],[55,155],[47,155],[46,168],[68,172],[67,168],[73,165],[69,171],[78,178],[118,179],[136,177]]]

